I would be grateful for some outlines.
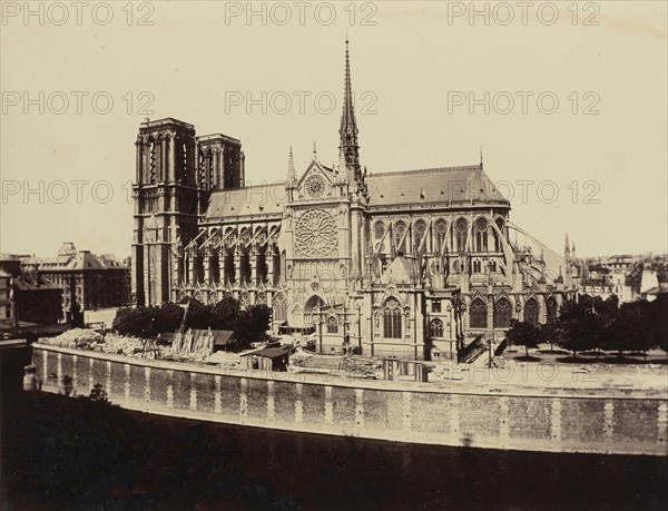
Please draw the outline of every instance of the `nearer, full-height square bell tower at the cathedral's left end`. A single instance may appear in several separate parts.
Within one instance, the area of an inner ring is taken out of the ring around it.
[[[141,306],[171,298],[177,252],[197,233],[200,190],[194,126],[146,119],[135,146],[132,292]]]

